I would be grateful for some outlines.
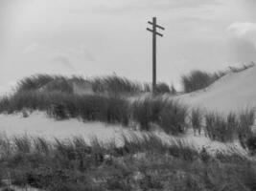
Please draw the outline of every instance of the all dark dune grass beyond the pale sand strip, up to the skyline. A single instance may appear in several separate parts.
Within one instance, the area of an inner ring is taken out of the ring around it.
[[[251,66],[232,71],[240,72]],[[195,87],[205,86],[222,74],[192,72],[191,75],[184,75],[183,79],[188,82],[184,82],[188,90],[193,91]],[[95,94],[76,94],[74,83],[89,84]],[[157,84],[156,89],[159,94],[176,94],[175,87],[170,89],[165,83]],[[247,139],[252,135],[254,111],[247,110],[240,115],[231,113],[228,117],[217,113],[204,115],[197,108],[190,113],[185,105],[164,96],[146,96],[129,101],[123,95],[147,91],[151,91],[149,84],[140,84],[117,75],[84,79],[79,76],[38,74],[22,79],[13,95],[1,98],[0,113],[23,112],[23,116],[28,117],[28,112],[24,111],[39,110],[58,120],[77,117],[83,121],[124,126],[135,122],[142,130],[149,131],[151,127],[158,126],[172,135],[184,134],[191,126],[198,134],[204,128],[205,134],[214,140],[226,142],[239,138],[244,148],[247,148]]]

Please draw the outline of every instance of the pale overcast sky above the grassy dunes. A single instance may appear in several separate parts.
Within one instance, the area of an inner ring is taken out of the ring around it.
[[[256,62],[255,0],[0,0],[0,86],[31,74],[118,74],[151,81]]]

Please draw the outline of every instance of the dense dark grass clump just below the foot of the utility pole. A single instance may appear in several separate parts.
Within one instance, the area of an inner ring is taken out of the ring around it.
[[[134,101],[132,116],[141,128],[149,130],[152,123],[158,124],[166,133],[173,135],[186,130],[187,108],[174,100],[166,98],[147,97]]]

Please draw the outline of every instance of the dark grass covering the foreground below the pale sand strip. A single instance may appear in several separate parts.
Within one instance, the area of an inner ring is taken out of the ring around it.
[[[82,138],[1,138],[0,176],[53,191],[255,190],[255,162],[235,153],[211,156],[182,142],[167,145],[152,134],[114,145],[96,138],[90,144]]]

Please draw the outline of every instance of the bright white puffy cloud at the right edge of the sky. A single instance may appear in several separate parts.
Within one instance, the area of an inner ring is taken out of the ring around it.
[[[256,33],[256,23],[251,22],[235,22],[231,24],[228,31],[233,32],[237,36],[245,36],[248,34]]]

